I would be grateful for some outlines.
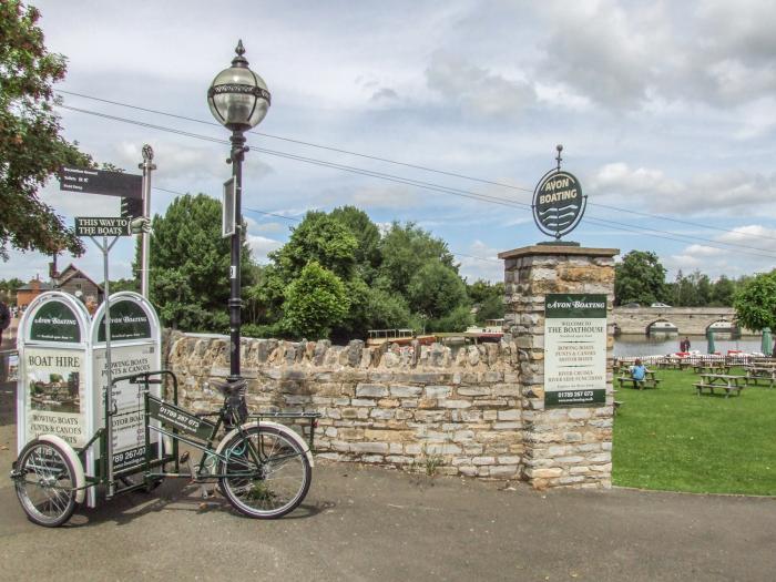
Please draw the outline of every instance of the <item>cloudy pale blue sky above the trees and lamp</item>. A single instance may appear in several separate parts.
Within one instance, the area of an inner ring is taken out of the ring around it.
[[[206,91],[242,39],[272,93],[244,165],[259,263],[305,212],[350,204],[445,239],[470,282],[502,280],[499,252],[547,239],[530,205],[562,144],[588,196],[565,239],[652,251],[668,280],[776,267],[775,2],[32,3],[68,58],[55,89],[80,111],[59,110],[64,136],[133,173],[151,144],[153,213],[221,196],[228,132]],[[55,181],[41,198],[68,224],[119,215],[119,198]],[[102,280],[85,246],[60,268]],[[132,255],[130,237],[116,244],[112,279],[131,276]],[[12,251],[0,278],[45,278],[49,261]]]

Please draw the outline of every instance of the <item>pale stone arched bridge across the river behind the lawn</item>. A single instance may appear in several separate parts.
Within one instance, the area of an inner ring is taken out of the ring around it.
[[[680,334],[705,335],[715,321],[733,321],[733,307],[615,307],[612,320],[622,334],[646,334],[646,328],[657,320],[671,321]],[[741,330],[749,335],[748,329]]]

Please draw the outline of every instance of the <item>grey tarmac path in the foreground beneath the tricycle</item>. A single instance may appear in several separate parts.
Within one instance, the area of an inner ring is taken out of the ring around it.
[[[171,480],[50,530],[17,502],[14,426],[0,419],[0,580],[775,579],[774,499],[539,493],[347,464],[316,467],[305,503],[278,521]]]

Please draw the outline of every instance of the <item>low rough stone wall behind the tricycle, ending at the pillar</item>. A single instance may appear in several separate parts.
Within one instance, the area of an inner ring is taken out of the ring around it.
[[[221,404],[208,386],[228,376],[228,338],[173,334],[169,367],[180,401]],[[450,348],[363,341],[244,339],[242,375],[252,410],[318,411],[318,456],[446,474],[520,478],[522,409],[517,350],[500,344]]]

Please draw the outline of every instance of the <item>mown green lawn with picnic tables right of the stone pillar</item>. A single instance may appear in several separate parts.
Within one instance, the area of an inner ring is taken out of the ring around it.
[[[698,397],[692,370],[656,376],[657,389],[619,388],[615,380],[624,404],[614,419],[614,484],[776,496],[776,388]]]

